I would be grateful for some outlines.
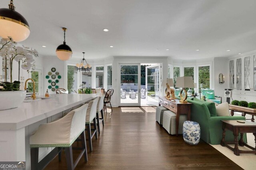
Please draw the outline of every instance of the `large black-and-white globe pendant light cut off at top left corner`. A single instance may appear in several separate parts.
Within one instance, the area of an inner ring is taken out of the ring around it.
[[[0,8],[0,27],[0,37],[12,37],[15,42],[24,41],[30,34],[27,20],[15,11],[12,0],[9,8]]]

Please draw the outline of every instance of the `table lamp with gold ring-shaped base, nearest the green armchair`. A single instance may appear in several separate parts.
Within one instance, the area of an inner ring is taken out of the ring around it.
[[[188,103],[188,101],[186,101],[188,94],[184,88],[194,88],[193,78],[191,76],[177,77],[176,87],[182,88],[180,91],[180,102]],[[182,95],[183,91],[185,92],[185,96]]]

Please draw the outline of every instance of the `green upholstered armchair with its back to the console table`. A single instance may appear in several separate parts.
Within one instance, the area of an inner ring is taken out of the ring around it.
[[[196,98],[188,98],[191,106],[191,120],[200,125],[201,139],[211,145],[219,145],[222,139],[222,121],[221,120],[245,120],[243,116],[217,116],[216,107],[213,102],[204,102]],[[231,131],[226,131],[226,141],[234,141],[234,135]],[[244,141],[247,143],[246,134]]]

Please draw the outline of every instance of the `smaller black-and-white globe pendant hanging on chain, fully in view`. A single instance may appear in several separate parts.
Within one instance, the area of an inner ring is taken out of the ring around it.
[[[64,41],[63,44],[59,45],[56,49],[56,55],[60,60],[66,61],[69,60],[72,56],[72,49],[66,45],[66,28],[62,28],[64,31]]]

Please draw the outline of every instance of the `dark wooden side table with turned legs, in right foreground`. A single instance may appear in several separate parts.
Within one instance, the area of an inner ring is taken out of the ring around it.
[[[235,155],[239,156],[240,153],[254,153],[256,154],[256,147],[253,148],[246,143],[244,143],[243,136],[244,133],[253,133],[255,137],[255,143],[256,143],[256,123],[246,121],[245,123],[239,123],[236,120],[222,120],[222,140],[220,145],[222,147],[227,147],[228,149],[232,150]],[[234,134],[234,142],[226,142],[225,141],[225,132],[226,130],[230,130]],[[238,133],[240,133],[240,140],[238,141]],[[235,147],[232,148],[229,145],[235,144]],[[252,150],[240,150],[238,149],[238,144],[240,146],[246,146]]]

